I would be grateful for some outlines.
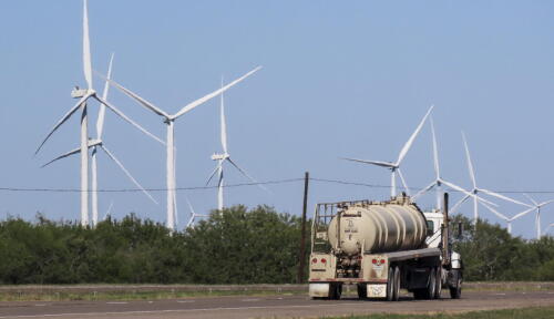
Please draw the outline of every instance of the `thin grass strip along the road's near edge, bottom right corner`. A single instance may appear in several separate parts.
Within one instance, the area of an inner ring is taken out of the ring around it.
[[[483,310],[463,313],[390,315],[325,317],[326,319],[547,319],[554,318],[554,307],[532,307],[519,309]]]

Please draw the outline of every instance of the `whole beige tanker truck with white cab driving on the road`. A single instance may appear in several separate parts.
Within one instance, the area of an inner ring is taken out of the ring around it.
[[[343,285],[356,285],[360,299],[398,301],[401,288],[416,299],[440,298],[445,288],[458,299],[463,264],[451,249],[450,233],[448,194],[442,212],[429,213],[406,194],[387,202],[318,204],[309,295],[340,299]]]

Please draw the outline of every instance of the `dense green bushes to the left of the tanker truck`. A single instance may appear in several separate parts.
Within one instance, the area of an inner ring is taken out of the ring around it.
[[[37,219],[0,223],[0,284],[285,284],[298,270],[300,218],[267,206],[174,234],[133,214],[94,229]]]

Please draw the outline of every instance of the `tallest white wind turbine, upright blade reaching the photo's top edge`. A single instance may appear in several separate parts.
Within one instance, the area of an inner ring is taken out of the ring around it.
[[[37,155],[44,143],[52,136],[52,134],[68,121],[78,110],[81,110],[81,225],[89,225],[89,120],[88,120],[88,110],[86,102],[89,99],[94,99],[100,103],[103,103],[107,109],[113,111],[120,117],[136,126],[138,130],[144,133],[151,135],[151,137],[157,138],[144,131],[136,123],[131,121],[127,116],[125,116],[122,112],[120,112],[115,106],[106,102],[104,99],[98,96],[96,91],[94,91],[92,86],[92,62],[91,62],[91,43],[89,38],[89,13],[88,13],[88,1],[83,0],[83,71],[84,79],[86,82],[86,89],[75,89],[71,92],[71,96],[74,99],[79,99],[73,107],[65,113],[60,121],[54,125],[54,127],[50,131],[47,137],[39,145],[34,155]]]

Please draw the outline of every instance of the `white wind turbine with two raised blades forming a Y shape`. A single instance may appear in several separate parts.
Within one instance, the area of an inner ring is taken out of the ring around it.
[[[174,131],[175,131],[175,120],[181,117],[183,114],[192,111],[196,106],[204,104],[205,102],[212,100],[213,97],[222,94],[223,92],[227,91],[232,86],[236,85],[237,83],[242,82],[246,78],[254,74],[256,71],[261,69],[261,66],[257,66],[256,69],[252,70],[250,72],[246,73],[245,75],[236,79],[235,81],[228,83],[227,85],[220,88],[219,90],[216,90],[194,102],[188,103],[185,105],[181,111],[178,111],[175,114],[170,114],[163,111],[162,109],[157,107],[153,103],[146,101],[145,99],[138,96],[136,93],[132,92],[131,90],[124,88],[123,85],[119,84],[117,82],[106,79],[112,85],[117,88],[121,92],[130,96],[131,99],[135,100],[138,102],[146,110],[150,110],[154,112],[155,114],[162,116],[166,127],[167,127],[167,140],[165,142],[166,145],[166,167],[167,167],[167,174],[166,174],[166,187],[167,187],[167,228],[170,230],[174,230],[175,228],[175,222],[174,222],[174,210],[176,206],[176,194],[175,194],[175,156],[174,156],[174,150],[175,150],[175,142],[174,142]]]

